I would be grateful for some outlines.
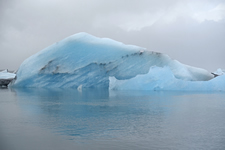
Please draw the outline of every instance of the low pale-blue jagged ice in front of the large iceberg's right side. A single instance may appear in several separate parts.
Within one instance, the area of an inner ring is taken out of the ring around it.
[[[148,74],[132,79],[109,77],[111,90],[225,91],[225,75],[209,81],[177,79],[169,67],[151,67]]]

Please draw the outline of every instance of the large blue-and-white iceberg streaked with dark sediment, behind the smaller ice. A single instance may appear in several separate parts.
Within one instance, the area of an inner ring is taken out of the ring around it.
[[[137,75],[147,74],[152,66],[166,66],[175,79],[184,81],[213,78],[208,71],[181,64],[168,55],[78,33],[26,59],[11,86],[108,88],[109,76],[132,80]]]

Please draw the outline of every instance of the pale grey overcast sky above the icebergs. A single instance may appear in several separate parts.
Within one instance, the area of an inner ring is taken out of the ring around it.
[[[225,68],[224,0],[0,0],[0,69],[78,32]]]

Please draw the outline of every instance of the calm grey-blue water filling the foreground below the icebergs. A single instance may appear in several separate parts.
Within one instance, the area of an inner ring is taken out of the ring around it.
[[[224,150],[225,93],[0,89],[1,150]]]

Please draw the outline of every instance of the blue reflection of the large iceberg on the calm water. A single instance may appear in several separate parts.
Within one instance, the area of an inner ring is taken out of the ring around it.
[[[166,99],[173,97],[173,94],[163,92],[109,93],[103,89],[84,89],[82,92],[76,89],[13,90],[21,109],[38,119],[36,123],[60,134],[81,138],[96,135],[113,137],[119,132],[131,134],[129,132],[139,125],[160,128],[168,110],[152,103],[163,102],[166,105],[165,95]]]

